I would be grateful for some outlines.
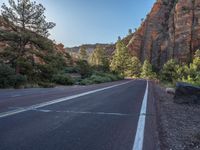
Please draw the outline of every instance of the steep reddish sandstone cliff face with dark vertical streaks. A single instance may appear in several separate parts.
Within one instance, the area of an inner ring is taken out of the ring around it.
[[[200,47],[200,0],[157,0],[128,47],[158,68],[171,58],[189,62]]]

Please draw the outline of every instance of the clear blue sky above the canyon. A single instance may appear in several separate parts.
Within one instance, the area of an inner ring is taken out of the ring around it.
[[[8,0],[0,0],[0,5]],[[52,40],[65,47],[114,43],[118,36],[138,28],[155,0],[35,0],[46,8],[48,21],[56,27]]]

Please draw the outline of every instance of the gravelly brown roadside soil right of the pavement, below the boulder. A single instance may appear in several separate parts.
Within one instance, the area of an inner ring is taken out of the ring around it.
[[[180,105],[155,85],[161,150],[200,150],[200,105]]]

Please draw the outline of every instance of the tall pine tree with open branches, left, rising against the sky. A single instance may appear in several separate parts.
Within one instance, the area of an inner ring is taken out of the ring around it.
[[[55,23],[47,22],[44,15],[45,8],[42,4],[36,4],[30,0],[9,0],[9,6],[2,5],[2,16],[14,32],[0,32],[0,40],[9,42],[9,47],[4,55],[11,57],[10,60],[16,67],[16,74],[20,73],[20,60],[26,58],[27,52],[33,53],[28,44],[43,47],[43,37],[49,36],[48,30]],[[39,39],[39,40],[38,40]],[[52,43],[52,42],[49,42]],[[30,59],[27,59],[30,60]]]

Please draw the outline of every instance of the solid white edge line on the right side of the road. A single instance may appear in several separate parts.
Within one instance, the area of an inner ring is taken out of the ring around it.
[[[144,94],[142,107],[140,111],[137,132],[135,136],[135,141],[132,150],[142,150],[143,149],[143,141],[144,141],[144,129],[145,129],[145,119],[146,119],[146,110],[147,110],[147,99],[148,99],[148,81],[146,86],[146,91]]]

